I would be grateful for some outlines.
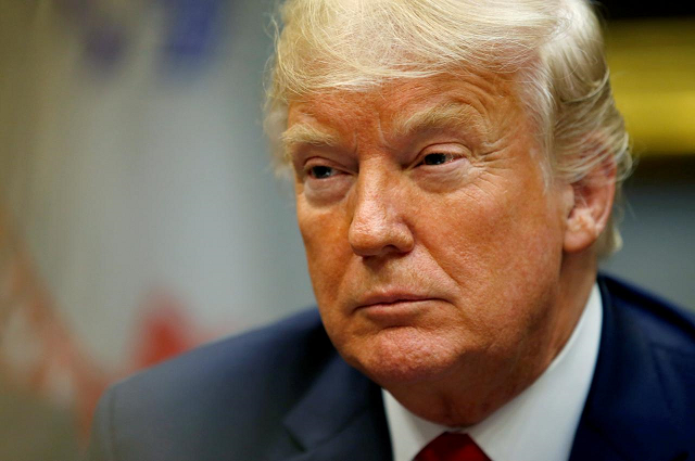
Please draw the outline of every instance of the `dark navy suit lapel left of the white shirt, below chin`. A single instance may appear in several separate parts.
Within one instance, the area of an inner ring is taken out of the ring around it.
[[[391,459],[380,388],[338,355],[285,425],[304,449],[288,461]]]

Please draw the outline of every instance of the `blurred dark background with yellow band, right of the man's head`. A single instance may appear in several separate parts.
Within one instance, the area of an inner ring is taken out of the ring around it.
[[[606,7],[610,80],[637,166],[624,188],[624,247],[603,267],[695,309],[695,10]]]

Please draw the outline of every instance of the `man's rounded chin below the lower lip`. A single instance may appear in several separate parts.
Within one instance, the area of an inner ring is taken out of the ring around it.
[[[460,360],[452,344],[433,334],[392,328],[355,340],[345,345],[341,355],[348,363],[387,387],[444,377]]]

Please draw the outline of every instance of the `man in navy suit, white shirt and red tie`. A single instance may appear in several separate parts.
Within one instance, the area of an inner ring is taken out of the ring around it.
[[[116,385],[92,459],[695,456],[693,320],[596,278],[630,156],[589,5],[291,0],[282,20],[268,130],[320,321]]]

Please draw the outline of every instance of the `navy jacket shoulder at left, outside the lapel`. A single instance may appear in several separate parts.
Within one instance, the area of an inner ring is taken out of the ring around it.
[[[237,459],[336,354],[313,309],[165,361],[102,396],[90,459]]]

